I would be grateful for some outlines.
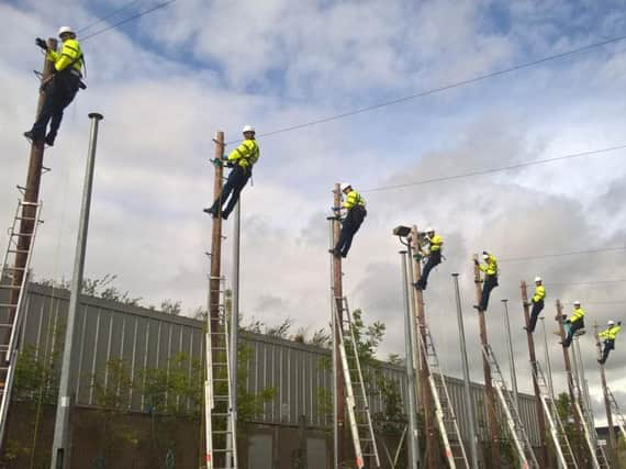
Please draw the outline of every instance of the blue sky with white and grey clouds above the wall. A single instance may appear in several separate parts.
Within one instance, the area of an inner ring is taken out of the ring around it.
[[[522,391],[532,390],[521,330],[519,281],[545,278],[548,349],[564,390],[552,335],[555,301],[586,306],[588,325],[624,317],[625,253],[545,256],[624,247],[626,150],[516,170],[393,188],[626,144],[626,41],[394,105],[294,131],[275,131],[436,89],[622,36],[619,0],[334,1],[177,0],[93,37],[158,2],[34,0],[0,3],[0,220],[8,225],[23,185],[42,56],[34,37],[69,24],[85,37],[89,89],[66,110],[46,152],[45,224],[37,278],[69,278],[89,121],[104,115],[98,147],[86,275],[116,273],[116,287],[144,304],[204,303],[211,223],[212,137],[257,127],[261,159],[243,200],[242,310],[311,331],[328,317],[328,226],[334,182],[349,181],[368,217],[344,284],[350,304],[388,326],[381,355],[403,354],[398,224],[433,225],[447,260],[433,273],[426,314],[446,370],[460,376],[451,272],[460,273],[472,379],[482,380],[471,309],[471,255],[502,259],[488,312],[489,334],[508,372],[501,299],[510,299]],[[119,14],[94,24],[116,9]],[[90,27],[88,27],[90,26]],[[87,29],[85,29],[87,27]],[[262,134],[272,133],[262,136]],[[391,187],[391,188],[390,188]],[[387,190],[378,190],[388,188]],[[231,268],[232,222],[224,256]],[[5,236],[4,236],[5,238]],[[3,241],[5,244],[5,239]],[[601,283],[580,283],[602,281]],[[554,283],[554,284],[551,284]],[[539,328],[540,331],[540,328]],[[591,328],[590,328],[591,332]],[[541,344],[543,337],[538,344]],[[624,338],[622,337],[624,340]],[[589,387],[602,421],[591,333],[581,339]],[[543,357],[543,347],[538,347]],[[617,344],[608,381],[626,406]],[[543,358],[541,358],[543,359]]]

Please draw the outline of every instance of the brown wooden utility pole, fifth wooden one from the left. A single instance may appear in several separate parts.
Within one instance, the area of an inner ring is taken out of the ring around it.
[[[473,278],[476,283],[476,298],[480,304],[482,297],[480,269],[478,267],[478,254],[473,255]],[[487,347],[489,340],[487,339],[487,321],[484,319],[484,311],[478,311],[478,325],[480,328],[480,344],[481,347]],[[491,439],[491,467],[499,469],[502,466],[500,457],[500,435],[498,428],[498,416],[495,413],[495,394],[493,393],[493,383],[491,381],[491,368],[484,354],[482,355],[482,368],[484,371],[484,393],[487,398],[487,417],[489,422],[489,435]]]

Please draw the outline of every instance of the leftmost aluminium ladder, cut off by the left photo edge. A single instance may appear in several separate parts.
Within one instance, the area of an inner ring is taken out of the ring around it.
[[[18,361],[18,344],[20,328],[24,315],[24,303],[29,268],[33,246],[41,223],[41,203],[18,201],[13,224],[8,231],[9,242],[2,260],[0,275],[0,442],[7,427],[7,415],[13,390],[15,365]],[[26,210],[33,212],[26,216]],[[22,222],[32,223],[32,233],[21,233]],[[20,241],[26,239],[26,249],[20,248]],[[24,267],[16,267],[15,260],[20,255],[26,255]],[[20,280],[21,279],[21,280]]]

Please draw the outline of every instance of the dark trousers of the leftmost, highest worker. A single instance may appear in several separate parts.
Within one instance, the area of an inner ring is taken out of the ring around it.
[[[35,139],[46,136],[48,122],[51,124],[48,135],[53,139],[56,137],[63,120],[63,111],[74,101],[79,83],[80,79],[76,75],[60,71],[46,85],[42,111],[31,130]]]

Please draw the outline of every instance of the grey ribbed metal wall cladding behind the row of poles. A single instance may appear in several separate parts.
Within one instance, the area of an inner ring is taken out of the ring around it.
[[[34,346],[37,357],[49,360],[56,353],[59,360],[60,350],[55,350],[54,338],[55,335],[62,338],[56,340],[58,348],[63,344],[68,303],[67,291],[30,286],[23,344]],[[91,297],[81,298],[76,331],[72,376],[76,378],[76,402],[81,405],[96,404],[93,376],[108,380],[105,364],[110,359],[123,359],[132,378],[139,380],[148,368],[168,369],[170,358],[180,351],[194,359],[204,357],[201,321]],[[258,393],[265,388],[276,390],[275,399],[264,405],[259,421],[298,425],[299,417],[304,415],[308,425],[323,427],[331,424],[331,416],[324,413],[318,395],[320,390],[326,390],[331,395],[332,376],[322,366],[323,359],[328,361],[329,350],[258,334],[242,334],[242,344],[251,350],[247,364],[248,391]],[[188,372],[191,376],[191,365]],[[401,395],[405,397],[404,368],[382,365],[382,372],[398,383]],[[461,433],[467,435],[467,415],[461,412],[465,409],[462,381],[455,378],[447,378],[446,381]],[[479,438],[487,440],[483,387],[472,383],[471,398]],[[128,402],[130,409],[145,411],[141,387],[130,391]],[[372,412],[383,411],[379,393],[372,394],[370,404]],[[521,394],[519,405],[530,440],[538,445],[533,397]]]

